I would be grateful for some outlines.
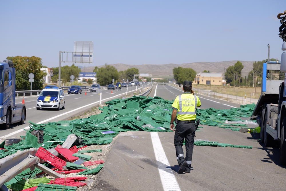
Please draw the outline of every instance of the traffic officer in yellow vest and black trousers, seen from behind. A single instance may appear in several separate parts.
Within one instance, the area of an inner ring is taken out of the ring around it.
[[[174,144],[179,164],[178,173],[190,173],[196,131],[196,107],[200,107],[201,103],[200,99],[194,95],[192,82],[184,81],[182,89],[184,94],[177,96],[171,107],[173,112],[170,128],[175,131],[174,120],[177,115]],[[182,149],[184,139],[186,139],[186,159]]]

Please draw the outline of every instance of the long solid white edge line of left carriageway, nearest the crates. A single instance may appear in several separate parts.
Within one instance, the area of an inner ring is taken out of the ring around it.
[[[138,90],[139,90],[139,89],[140,89],[140,88],[138,88]],[[131,91],[129,91],[129,92],[133,92],[133,91],[136,91],[136,90],[131,90]],[[125,92],[125,93],[122,93],[122,94],[118,94],[118,95],[112,96],[112,97],[108,97],[108,98],[106,98],[106,99],[102,99],[102,101],[105,101],[105,100],[108,100],[108,99],[111,99],[111,98],[115,98],[115,97],[118,97],[118,96],[123,95],[123,94],[126,94],[126,92]],[[52,119],[61,117],[61,116],[66,115],[66,114],[68,114],[68,113],[72,113],[72,112],[74,112],[74,111],[77,111],[77,110],[79,110],[79,109],[88,107],[88,106],[90,106],[90,105],[94,105],[94,104],[99,103],[99,102],[100,102],[100,101],[96,101],[96,102],[90,103],[90,104],[88,104],[88,105],[84,105],[84,106],[82,106],[82,107],[78,107],[78,108],[73,109],[73,110],[71,110],[71,111],[67,111],[67,112],[65,112],[65,113],[56,115],[56,116],[51,117],[51,118],[49,118],[49,119],[45,119],[45,120],[43,120],[43,121],[40,121],[40,122],[38,122],[37,124],[41,124],[41,123],[48,122],[48,121],[50,121],[50,120],[52,120]],[[15,135],[15,134],[17,134],[17,133],[20,133],[21,131],[24,131],[24,130],[27,130],[27,129],[30,129],[30,127],[28,126],[28,127],[23,128],[23,129],[19,129],[19,130],[17,130],[17,131],[14,131],[14,132],[12,132],[12,133],[9,133],[9,134],[7,134],[7,135],[4,135],[4,136],[2,136],[2,137],[0,137],[0,138],[7,138],[7,137],[10,137],[10,136]]]

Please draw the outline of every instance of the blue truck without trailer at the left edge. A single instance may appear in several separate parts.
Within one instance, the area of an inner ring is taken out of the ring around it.
[[[14,64],[0,62],[0,124],[9,129],[10,124],[23,124],[26,120],[25,104],[16,104],[16,73]]]

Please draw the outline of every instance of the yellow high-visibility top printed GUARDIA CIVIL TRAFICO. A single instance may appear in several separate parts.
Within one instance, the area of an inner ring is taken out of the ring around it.
[[[200,106],[200,99],[196,95],[184,92],[176,97],[171,108],[177,110],[178,120],[188,121],[196,119],[196,108]]]

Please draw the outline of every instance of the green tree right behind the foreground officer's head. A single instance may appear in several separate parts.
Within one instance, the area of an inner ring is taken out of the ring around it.
[[[192,68],[182,68],[180,66],[173,69],[173,74],[175,80],[179,84],[182,84],[186,80],[194,81],[194,78],[196,77],[196,71]]]

